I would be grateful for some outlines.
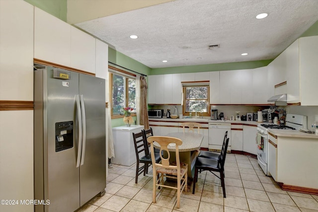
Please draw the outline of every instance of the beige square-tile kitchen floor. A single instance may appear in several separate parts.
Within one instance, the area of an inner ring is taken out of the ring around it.
[[[227,154],[223,198],[221,181],[211,173],[202,172],[196,184],[181,195],[176,208],[175,190],[163,188],[152,203],[152,172],[138,178],[136,164],[112,164],[106,179],[106,194],[93,199],[80,212],[318,212],[318,196],[286,192],[265,176],[257,160],[245,155]]]

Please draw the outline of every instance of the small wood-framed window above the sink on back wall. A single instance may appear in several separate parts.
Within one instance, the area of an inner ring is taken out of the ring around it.
[[[210,116],[209,85],[183,85],[183,115]]]

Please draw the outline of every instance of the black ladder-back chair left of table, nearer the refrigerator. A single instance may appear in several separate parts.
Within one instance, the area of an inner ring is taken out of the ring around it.
[[[135,183],[138,182],[138,176],[141,173],[144,173],[144,176],[148,174],[148,167],[152,165],[151,154],[148,150],[148,144],[146,144],[147,139],[144,136],[144,132],[140,133],[133,133],[134,145],[135,145],[135,152],[136,152],[136,180]],[[147,142],[148,143],[148,142]],[[143,156],[140,156],[143,155]],[[156,162],[161,160],[160,155],[155,155]],[[143,166],[140,166],[140,163],[144,163]]]

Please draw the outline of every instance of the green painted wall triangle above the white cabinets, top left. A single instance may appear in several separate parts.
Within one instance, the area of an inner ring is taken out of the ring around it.
[[[68,12],[67,0],[25,0],[25,1],[67,22],[67,12]]]

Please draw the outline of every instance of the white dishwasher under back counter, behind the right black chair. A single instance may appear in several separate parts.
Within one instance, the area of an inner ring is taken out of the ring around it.
[[[225,132],[228,131],[229,145],[231,151],[231,124],[230,123],[209,123],[209,150],[221,151]]]

